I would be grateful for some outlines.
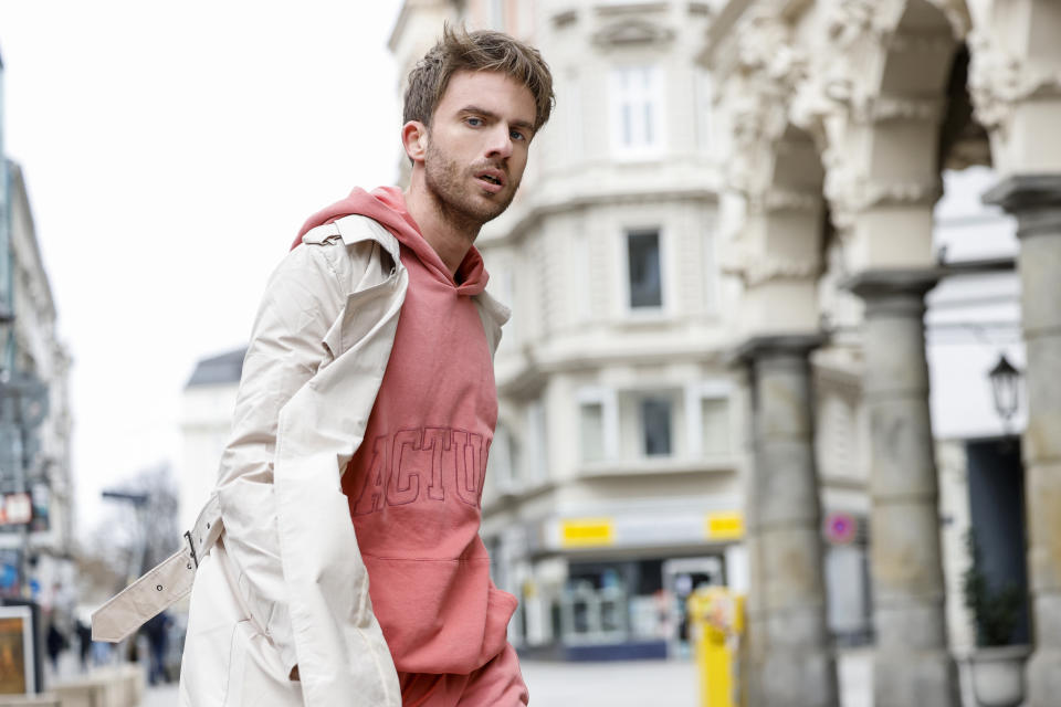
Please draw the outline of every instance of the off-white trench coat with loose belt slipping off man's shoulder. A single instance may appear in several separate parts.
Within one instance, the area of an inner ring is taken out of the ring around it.
[[[120,639],[193,577],[182,707],[400,707],[339,478],[408,282],[397,239],[358,215],[306,233],[273,273],[218,487],[189,547],[93,618],[96,637]],[[496,350],[508,310],[485,293],[475,302]]]

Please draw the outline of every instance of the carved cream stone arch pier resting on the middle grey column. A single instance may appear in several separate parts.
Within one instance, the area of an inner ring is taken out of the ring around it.
[[[937,2],[874,8],[861,20],[840,13],[828,30],[842,63],[827,78],[839,92],[842,127],[828,135],[826,194],[854,273],[933,262],[941,125],[962,48]]]

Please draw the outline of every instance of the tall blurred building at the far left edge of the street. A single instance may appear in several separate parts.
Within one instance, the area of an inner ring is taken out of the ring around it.
[[[3,157],[0,64],[0,595],[73,608],[70,354],[21,168]],[[67,614],[69,615],[69,614]]]

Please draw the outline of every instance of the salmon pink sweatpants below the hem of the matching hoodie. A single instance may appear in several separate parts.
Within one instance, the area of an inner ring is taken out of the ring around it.
[[[527,686],[510,644],[471,675],[398,673],[402,707],[523,707]]]

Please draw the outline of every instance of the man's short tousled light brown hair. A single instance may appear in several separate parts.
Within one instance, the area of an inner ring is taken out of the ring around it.
[[[504,32],[469,32],[447,23],[442,39],[409,72],[402,122],[419,120],[430,128],[445,87],[459,71],[497,71],[526,86],[534,96],[535,131],[553,113],[553,74],[538,50]]]

